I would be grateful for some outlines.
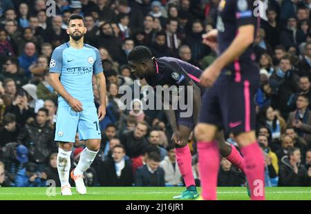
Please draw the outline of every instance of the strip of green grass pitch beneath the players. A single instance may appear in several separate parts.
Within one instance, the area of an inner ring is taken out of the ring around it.
[[[73,195],[48,196],[48,188],[0,188],[0,200],[172,200],[182,187],[88,187],[86,195],[79,195],[72,188]],[[200,191],[200,188],[198,188]],[[220,187],[218,200],[249,200],[246,188]],[[267,200],[311,200],[311,187],[270,187],[266,188]]]

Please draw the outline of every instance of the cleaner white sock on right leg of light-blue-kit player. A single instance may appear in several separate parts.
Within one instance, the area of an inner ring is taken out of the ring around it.
[[[98,153],[98,150],[92,151],[92,150],[89,150],[88,148],[84,148],[84,150],[82,151],[80,155],[79,163],[77,164],[75,171],[73,171],[73,174],[82,175],[84,171],[86,171],[88,167],[91,166],[97,153]]]

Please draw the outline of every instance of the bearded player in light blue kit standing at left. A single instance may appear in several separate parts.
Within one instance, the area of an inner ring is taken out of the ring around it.
[[[83,172],[91,166],[100,150],[100,124],[106,114],[106,80],[100,53],[92,46],[84,44],[86,27],[78,14],[70,15],[67,43],[55,48],[50,60],[50,82],[57,91],[58,108],[55,141],[59,142],[57,171],[62,185],[62,195],[72,195],[68,182],[70,155],[75,135],[86,140],[77,167],[70,176],[75,181],[77,192],[86,194]],[[100,93],[100,107],[94,104],[92,75]]]

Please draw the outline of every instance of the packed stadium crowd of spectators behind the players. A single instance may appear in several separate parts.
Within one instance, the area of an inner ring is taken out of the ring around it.
[[[224,0],[222,0],[225,2]],[[239,0],[246,1],[246,0]],[[265,156],[266,186],[311,186],[310,0],[260,1],[261,25],[254,43],[261,87],[256,93],[257,137]],[[57,94],[49,84],[53,49],[68,41],[66,21],[82,14],[84,42],[100,51],[107,84],[102,144],[87,186],[182,186],[162,110],[144,110],[144,80],[135,81],[126,56],[138,45],[155,57],[176,57],[207,68],[217,50],[202,44],[216,27],[220,0],[44,0],[0,3],[0,186],[45,186],[57,175],[54,141]],[[121,86],[142,90],[124,109]],[[99,105],[96,84],[95,104]],[[234,144],[227,133],[229,144]],[[196,144],[189,139],[200,184]],[[76,136],[72,167],[84,142]],[[243,186],[245,177],[221,159],[218,186]]]

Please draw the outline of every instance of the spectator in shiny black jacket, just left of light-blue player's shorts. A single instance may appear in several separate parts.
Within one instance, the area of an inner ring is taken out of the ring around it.
[[[40,108],[35,121],[26,124],[17,137],[17,142],[27,146],[29,158],[34,162],[38,171],[43,171],[51,153],[57,151],[54,142],[54,128],[50,128],[48,121],[48,110]]]

